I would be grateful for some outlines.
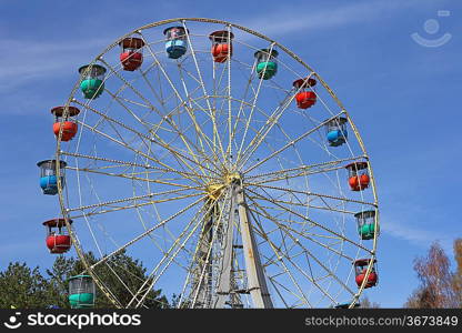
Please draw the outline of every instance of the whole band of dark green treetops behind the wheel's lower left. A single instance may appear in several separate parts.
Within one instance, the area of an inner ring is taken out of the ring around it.
[[[86,255],[90,264],[97,262],[93,253],[89,252]],[[4,272],[0,272],[0,309],[51,305],[69,309],[69,279],[82,272],[84,266],[79,259],[62,255],[58,256],[52,268],[47,270],[47,278],[41,275],[39,268],[31,270],[26,263],[10,263]],[[131,293],[135,293],[148,278],[147,269],[142,263],[124,252],[98,265],[94,273],[123,306],[130,302]],[[150,309],[170,307],[161,291],[153,289],[148,291],[144,305]],[[116,307],[98,287],[96,307]]]

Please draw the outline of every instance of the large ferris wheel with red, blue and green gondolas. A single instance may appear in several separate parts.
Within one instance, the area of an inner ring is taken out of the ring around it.
[[[353,307],[378,284],[363,141],[290,50],[230,22],[171,19],[79,72],[51,110],[57,153],[39,163],[40,185],[61,218],[43,224],[50,252],[74,248],[101,296],[140,307],[161,289],[178,307]],[[147,268],[137,287],[110,260],[123,251]]]

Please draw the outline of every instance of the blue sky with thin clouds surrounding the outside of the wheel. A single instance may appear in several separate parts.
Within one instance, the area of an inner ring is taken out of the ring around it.
[[[260,31],[312,65],[355,121],[371,157],[381,206],[382,306],[416,286],[412,260],[462,236],[462,89],[459,1],[0,1],[0,268],[50,265],[41,222],[57,212],[41,195],[37,161],[51,157],[49,109],[62,104],[77,69],[125,32],[175,17],[205,17]],[[439,17],[449,10],[449,17]],[[440,30],[424,30],[438,20]],[[438,48],[416,43],[444,33]]]

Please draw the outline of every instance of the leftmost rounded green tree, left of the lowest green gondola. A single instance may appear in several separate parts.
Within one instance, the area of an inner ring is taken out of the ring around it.
[[[0,309],[47,307],[49,283],[39,268],[29,269],[26,263],[10,263],[0,272]]]

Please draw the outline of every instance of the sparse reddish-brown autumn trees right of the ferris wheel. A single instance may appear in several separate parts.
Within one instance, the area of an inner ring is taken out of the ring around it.
[[[459,241],[456,241],[458,244]],[[462,261],[462,258],[460,261]],[[430,246],[425,258],[418,258],[414,261],[414,270],[418,273],[420,286],[408,299],[408,302],[404,304],[405,307],[439,309],[460,306],[460,292],[458,301],[458,291],[454,287],[454,285],[459,285],[459,282],[455,281],[460,281],[460,279],[458,280],[456,278],[458,273],[451,273],[450,261],[438,242]]]

